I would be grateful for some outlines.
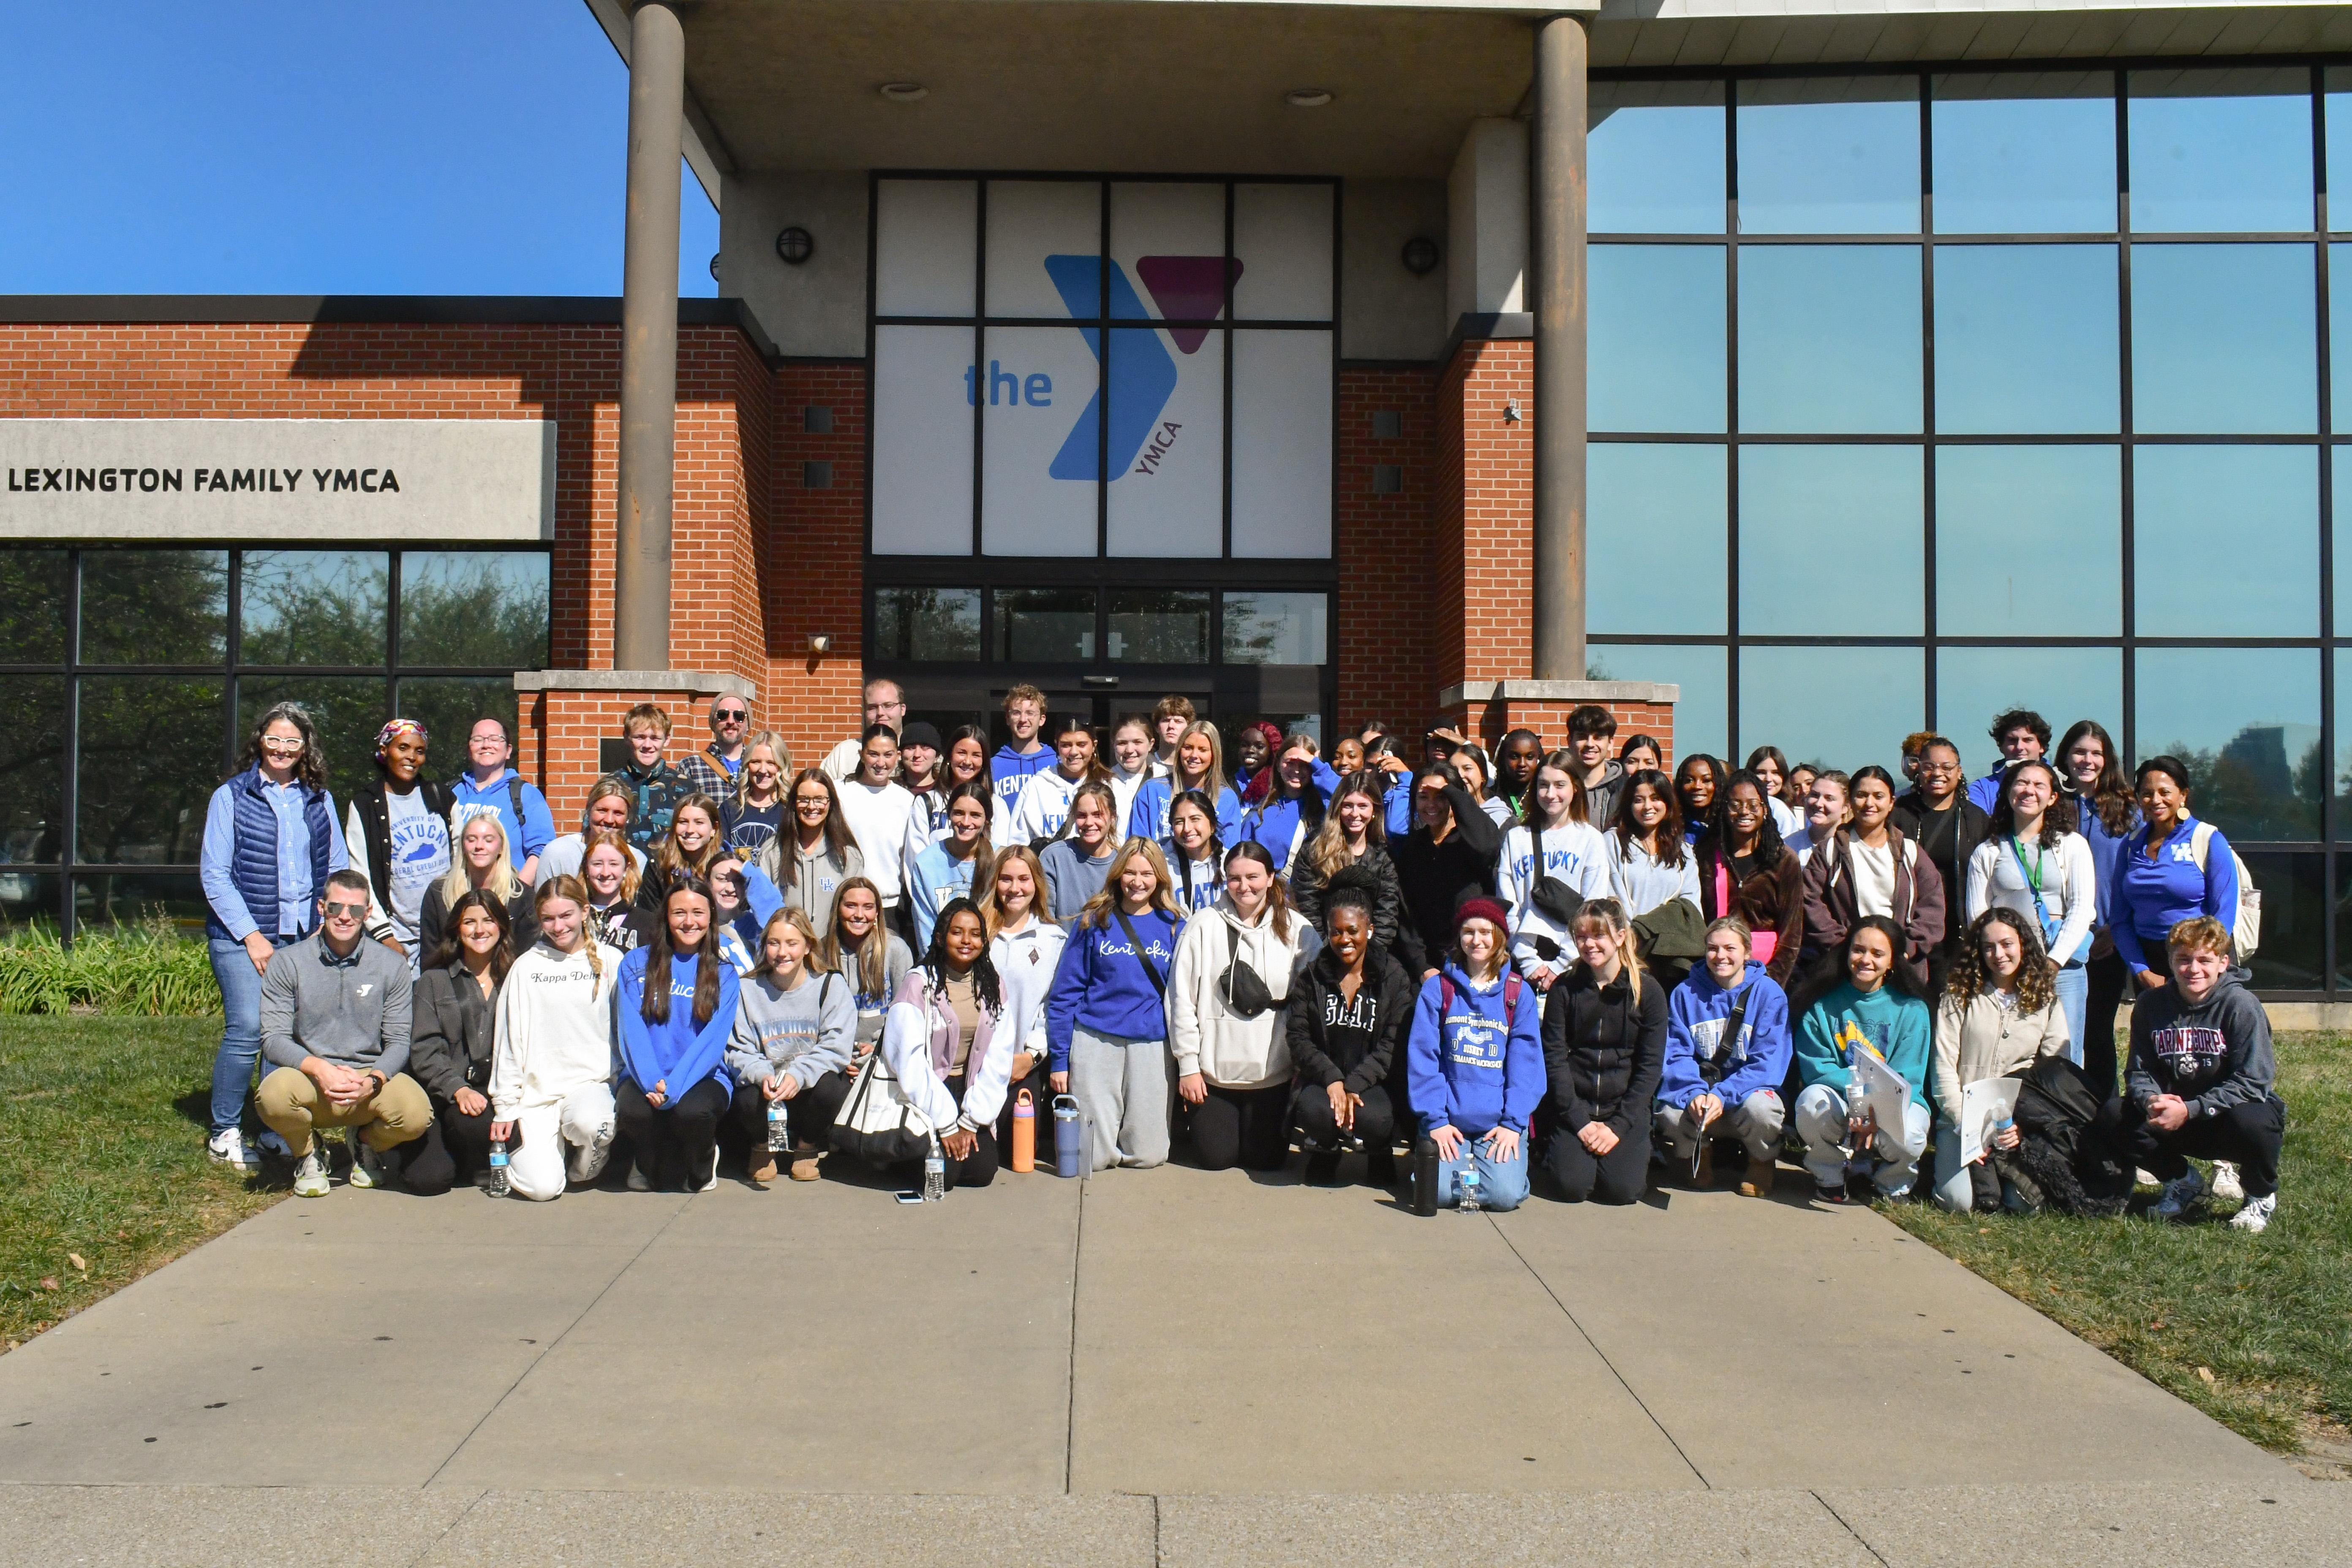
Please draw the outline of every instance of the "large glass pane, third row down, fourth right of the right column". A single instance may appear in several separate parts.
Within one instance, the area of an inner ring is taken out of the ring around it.
[[[2310,447],[2138,447],[2140,637],[2317,637],[2319,463]]]

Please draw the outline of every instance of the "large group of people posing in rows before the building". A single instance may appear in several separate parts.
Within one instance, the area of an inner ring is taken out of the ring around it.
[[[1002,745],[863,696],[814,766],[741,696],[684,757],[630,708],[564,835],[499,719],[447,783],[393,719],[339,813],[308,712],[263,712],[205,823],[212,1154],[301,1194],[318,1128],[353,1131],[350,1185],[421,1194],[555,1199],[616,1150],[630,1190],[731,1159],[985,1187],[1033,1164],[1023,1119],[1037,1168],[1296,1150],[1395,1185],[1406,1154],[1416,1204],[1630,1204],[1717,1164],[1766,1197],[1790,1154],[1825,1204],[2119,1213],[2152,1173],[2159,1218],[2209,1185],[2239,1229],[2274,1213],[2258,898],[2190,771],[2126,780],[2091,719],[2053,748],[1999,715],[1978,778],[1917,733],[1896,778],[1771,745],[1668,771],[1602,708],[1557,748],[1327,755],[1171,696],[1103,755],[1030,686]]]

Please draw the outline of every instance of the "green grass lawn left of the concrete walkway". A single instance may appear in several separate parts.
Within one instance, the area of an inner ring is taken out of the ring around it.
[[[205,1157],[219,1039],[219,1018],[0,1018],[0,1345],[285,1197]]]

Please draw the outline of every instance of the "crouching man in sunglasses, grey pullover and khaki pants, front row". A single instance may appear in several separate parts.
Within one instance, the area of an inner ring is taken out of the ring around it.
[[[362,940],[367,877],[327,877],[320,929],[282,947],[261,976],[261,1119],[299,1161],[294,1197],[327,1194],[327,1157],[313,1128],[355,1128],[350,1185],[400,1175],[397,1150],[435,1135],[433,1103],[409,1065],[409,964]]]

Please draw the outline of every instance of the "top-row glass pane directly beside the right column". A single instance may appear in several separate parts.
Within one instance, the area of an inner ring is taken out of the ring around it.
[[[1724,233],[1722,82],[1592,82],[1590,233]]]

